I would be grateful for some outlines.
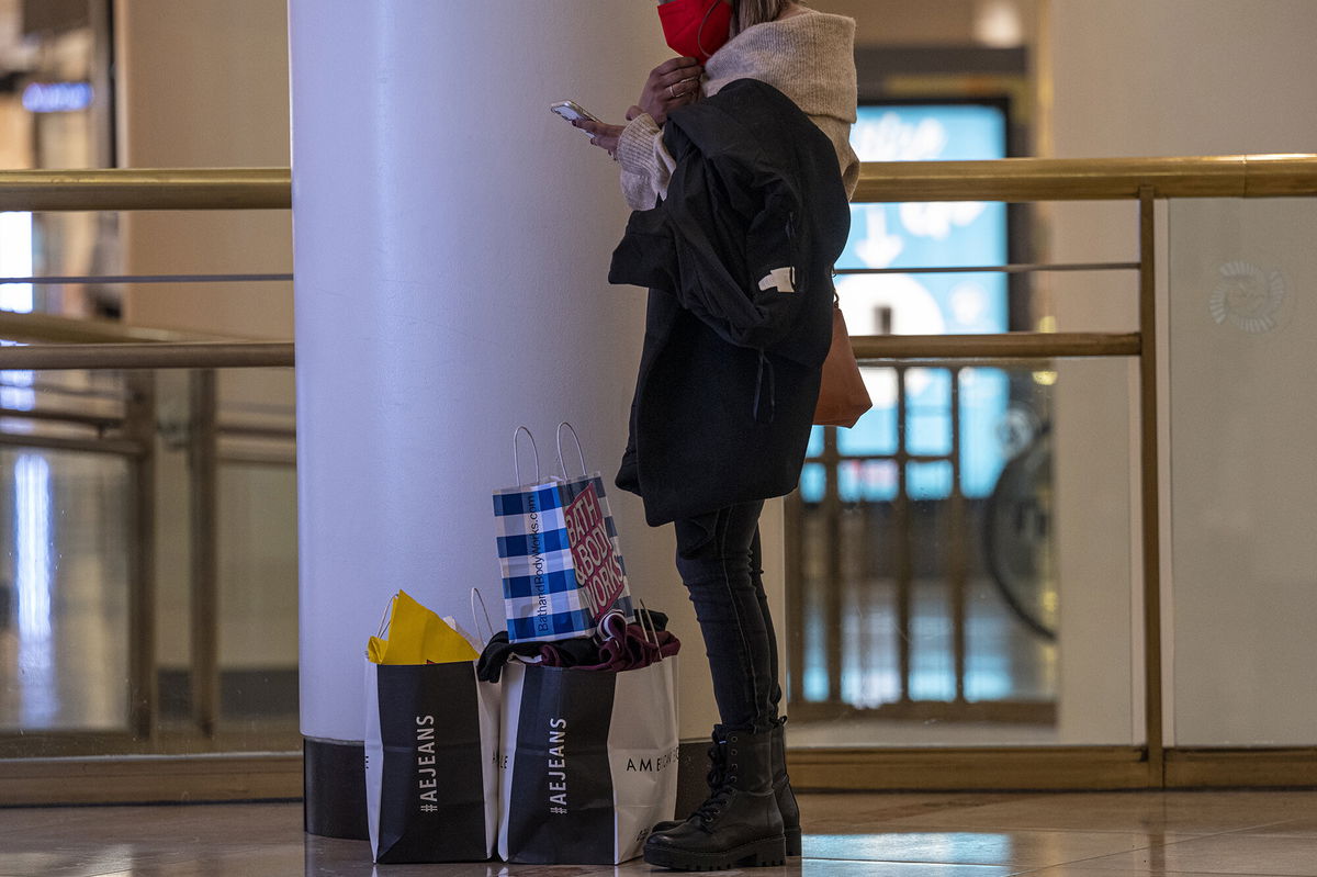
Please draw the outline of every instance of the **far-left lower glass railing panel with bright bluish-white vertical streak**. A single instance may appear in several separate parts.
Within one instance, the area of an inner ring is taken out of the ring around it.
[[[0,733],[128,728],[128,469],[0,446]]]

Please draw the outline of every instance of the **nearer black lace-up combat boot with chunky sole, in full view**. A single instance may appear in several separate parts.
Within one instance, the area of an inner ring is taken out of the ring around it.
[[[782,814],[773,793],[772,737],[772,731],[727,731],[720,782],[686,822],[649,836],[645,861],[676,870],[785,863]]]

